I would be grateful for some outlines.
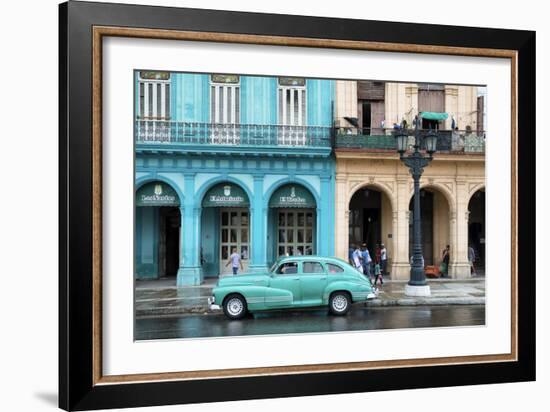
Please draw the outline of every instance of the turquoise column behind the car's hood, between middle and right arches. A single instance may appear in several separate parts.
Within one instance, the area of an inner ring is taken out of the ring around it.
[[[254,197],[250,199],[250,272],[267,270],[267,205],[264,205],[264,176],[254,175]]]

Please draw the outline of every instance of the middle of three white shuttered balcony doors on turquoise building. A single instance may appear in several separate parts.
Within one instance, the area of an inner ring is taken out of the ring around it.
[[[240,77],[213,74],[210,82],[210,141],[240,143]]]

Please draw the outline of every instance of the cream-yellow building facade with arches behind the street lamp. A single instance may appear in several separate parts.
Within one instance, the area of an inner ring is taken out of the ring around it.
[[[441,136],[421,180],[425,266],[439,266],[450,245],[448,275],[468,278],[472,250],[478,266],[485,255],[484,94],[475,86],[337,81],[335,252],[347,259],[352,245],[373,254],[383,243],[390,277],[409,278],[413,181],[392,131],[425,111],[448,114],[421,125]]]

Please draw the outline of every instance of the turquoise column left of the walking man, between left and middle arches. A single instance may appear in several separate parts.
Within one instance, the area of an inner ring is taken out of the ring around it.
[[[184,176],[185,199],[181,211],[180,248],[183,260],[178,269],[177,285],[200,285],[203,280],[199,261],[201,208],[195,207],[195,175]]]

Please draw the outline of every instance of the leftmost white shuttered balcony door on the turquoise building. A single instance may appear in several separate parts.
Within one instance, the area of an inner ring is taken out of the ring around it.
[[[170,141],[170,73],[139,72],[138,95],[138,141]]]

